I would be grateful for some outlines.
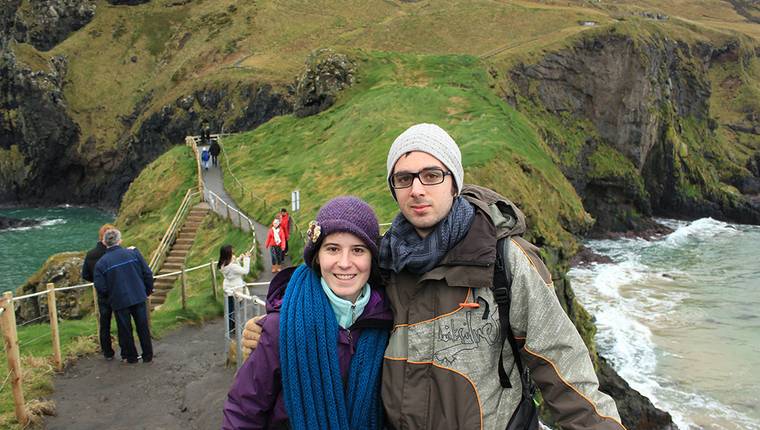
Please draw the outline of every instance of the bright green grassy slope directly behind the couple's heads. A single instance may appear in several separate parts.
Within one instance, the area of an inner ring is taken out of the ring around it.
[[[301,212],[294,218],[301,229],[320,205],[340,194],[366,199],[381,222],[390,221],[397,206],[385,181],[388,148],[408,126],[432,122],[458,142],[466,182],[494,186],[515,198],[530,219],[541,220],[533,231],[540,242],[574,246],[562,224],[577,226],[587,218],[578,196],[527,119],[494,95],[478,59],[382,52],[355,56],[359,84],[328,111],[303,119],[275,118],[224,139],[231,169],[245,191],[230,175],[225,187],[246,212],[267,224],[277,209],[289,207],[290,192],[299,189]],[[541,199],[536,202],[529,197],[537,189]],[[298,250],[300,244],[291,244]]]

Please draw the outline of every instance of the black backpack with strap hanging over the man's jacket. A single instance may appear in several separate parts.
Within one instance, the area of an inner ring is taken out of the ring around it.
[[[509,382],[509,376],[504,370],[504,341],[509,341],[512,348],[512,355],[515,359],[515,365],[520,373],[520,382],[522,385],[522,398],[518,403],[515,412],[509,419],[507,430],[534,430],[538,429],[538,409],[533,401],[536,394],[536,385],[530,378],[530,369],[523,365],[520,358],[520,349],[517,346],[515,335],[512,333],[512,327],[509,323],[509,306],[511,303],[512,289],[512,271],[509,268],[509,247],[512,244],[512,237],[507,236],[498,240],[496,243],[496,268],[493,277],[493,295],[499,309],[499,324],[501,325],[501,354],[499,355],[499,382],[504,388],[512,388]]]

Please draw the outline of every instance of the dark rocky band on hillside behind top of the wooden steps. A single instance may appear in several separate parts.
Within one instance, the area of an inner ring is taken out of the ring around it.
[[[99,151],[92,139],[82,143],[77,169],[68,170],[67,185],[76,199],[110,207],[140,171],[185,136],[198,134],[207,122],[213,132],[237,132],[258,127],[292,111],[292,103],[268,84],[238,82],[198,89],[158,110],[149,110],[149,94],[120,122],[125,127],[115,148]],[[135,123],[134,126],[133,123]]]

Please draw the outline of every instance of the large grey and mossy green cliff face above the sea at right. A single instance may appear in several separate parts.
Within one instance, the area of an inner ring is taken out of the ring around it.
[[[544,137],[596,231],[645,228],[652,214],[757,224],[760,208],[721,183],[725,169],[735,183],[754,179],[726,156],[710,116],[711,63],[737,50],[613,29],[509,70],[504,97],[548,118]],[[574,140],[556,124],[585,136]]]

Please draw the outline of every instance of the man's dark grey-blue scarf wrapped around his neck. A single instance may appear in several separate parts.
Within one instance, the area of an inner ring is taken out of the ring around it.
[[[406,269],[415,275],[429,272],[470,231],[474,219],[475,208],[456,197],[448,216],[423,239],[399,213],[380,242],[380,267],[396,273]]]

